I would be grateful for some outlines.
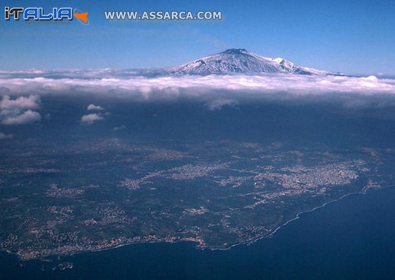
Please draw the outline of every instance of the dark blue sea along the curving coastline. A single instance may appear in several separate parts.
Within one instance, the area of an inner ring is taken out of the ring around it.
[[[141,244],[61,261],[74,267],[41,271],[1,253],[0,279],[395,279],[395,188],[345,197],[230,250]]]

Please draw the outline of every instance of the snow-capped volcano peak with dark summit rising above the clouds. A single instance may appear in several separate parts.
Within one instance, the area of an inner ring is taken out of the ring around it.
[[[245,49],[228,49],[195,61],[165,68],[167,74],[295,73],[304,75],[342,75],[298,66],[282,58],[269,58]]]

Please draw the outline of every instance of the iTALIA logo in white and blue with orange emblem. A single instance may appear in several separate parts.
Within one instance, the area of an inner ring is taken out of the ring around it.
[[[89,25],[88,12],[82,12],[79,9],[74,9],[70,7],[62,8],[52,8],[50,12],[45,12],[43,8],[38,7],[4,7],[4,18],[5,20],[10,20],[11,17],[14,20],[77,20],[83,25]]]

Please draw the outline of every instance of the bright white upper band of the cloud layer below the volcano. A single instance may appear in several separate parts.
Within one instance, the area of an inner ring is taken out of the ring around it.
[[[37,70],[35,70],[37,71]],[[73,76],[73,71],[64,76]],[[379,79],[375,76],[308,76],[295,74],[235,74],[209,76],[134,76],[124,72],[123,75],[111,77],[109,72],[99,70],[75,70],[79,78],[13,77],[0,79],[1,95],[30,95],[58,93],[92,93],[113,96],[132,96],[150,99],[179,95],[201,96],[215,91],[232,91],[254,94],[286,93],[292,96],[338,94],[394,94],[395,79]],[[2,71],[4,73],[4,71]],[[111,73],[111,72],[110,72]],[[25,75],[29,76],[27,73]],[[1,76],[1,75],[0,75]],[[3,75],[4,76],[4,75]],[[15,75],[14,75],[15,76]],[[193,90],[191,90],[193,89]]]

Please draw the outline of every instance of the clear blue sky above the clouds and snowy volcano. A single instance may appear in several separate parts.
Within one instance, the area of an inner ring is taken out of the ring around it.
[[[394,0],[2,1],[1,69],[174,66],[227,48],[349,74],[395,74]],[[11,7],[70,6],[89,26],[5,21]],[[215,10],[223,20],[126,21],[105,10]]]

